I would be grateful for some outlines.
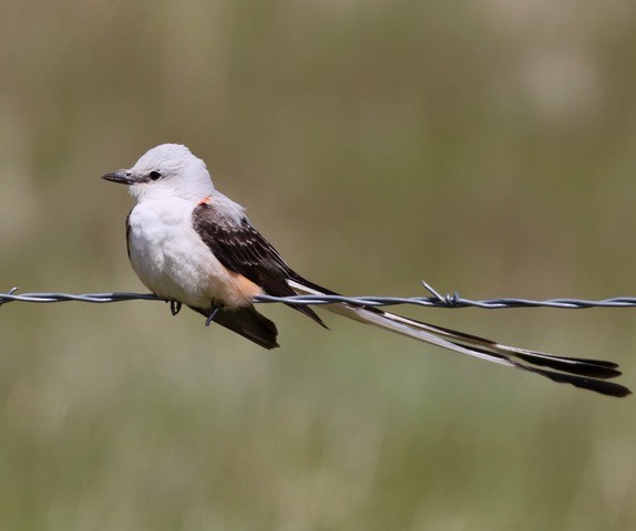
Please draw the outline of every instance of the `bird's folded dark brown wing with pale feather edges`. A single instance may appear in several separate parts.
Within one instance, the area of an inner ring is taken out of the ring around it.
[[[274,296],[296,295],[287,279],[299,277],[285,263],[278,251],[249,223],[230,225],[214,208],[202,204],[192,212],[194,230],[227,269],[243,274]],[[306,305],[291,305],[325,326],[322,320]],[[326,327],[326,326],[325,326]]]

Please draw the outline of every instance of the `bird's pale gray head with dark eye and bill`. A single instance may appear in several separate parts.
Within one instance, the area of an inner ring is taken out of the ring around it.
[[[153,147],[132,168],[102,178],[127,185],[137,202],[165,197],[199,200],[214,191],[205,163],[181,144]]]

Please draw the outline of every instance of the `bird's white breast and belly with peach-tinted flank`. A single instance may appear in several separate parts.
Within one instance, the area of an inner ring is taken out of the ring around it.
[[[141,281],[157,296],[189,306],[249,304],[260,289],[216,259],[193,229],[191,218],[187,211],[133,209],[129,251]]]

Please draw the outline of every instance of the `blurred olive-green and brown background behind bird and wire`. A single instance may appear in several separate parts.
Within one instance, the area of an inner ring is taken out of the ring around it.
[[[636,292],[636,6],[4,2],[2,290],[145,291],[100,176],[188,145],[347,294]],[[632,530],[636,406],[325,315],[0,310],[0,529]],[[410,310],[636,387],[632,310]]]

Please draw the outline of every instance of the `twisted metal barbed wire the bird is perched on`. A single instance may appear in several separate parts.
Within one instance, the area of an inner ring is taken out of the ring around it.
[[[424,288],[431,292],[432,296],[345,296],[345,295],[294,295],[294,296],[271,296],[258,295],[254,299],[255,303],[285,303],[285,304],[334,304],[345,302],[356,306],[391,306],[398,304],[412,304],[429,308],[481,308],[486,310],[500,310],[504,308],[558,308],[566,310],[582,310],[587,308],[634,308],[636,306],[636,296],[616,296],[601,301],[591,301],[583,299],[548,299],[544,301],[533,301],[529,299],[486,299],[473,301],[461,298],[457,292],[452,295],[441,295],[431,285],[422,282]],[[104,304],[109,302],[124,301],[164,301],[152,293],[21,293],[18,294],[18,288],[9,290],[7,293],[0,293],[0,305],[9,302],[91,302]],[[171,303],[173,314],[178,311],[178,303],[175,301],[164,301]]]

